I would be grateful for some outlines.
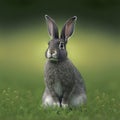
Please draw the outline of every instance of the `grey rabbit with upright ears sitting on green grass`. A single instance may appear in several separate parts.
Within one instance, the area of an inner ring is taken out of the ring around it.
[[[45,52],[47,62],[44,69],[45,91],[43,106],[77,107],[86,103],[84,80],[67,57],[66,44],[74,31],[76,16],[68,19],[60,37],[55,21],[45,15],[48,32],[52,38]]]

